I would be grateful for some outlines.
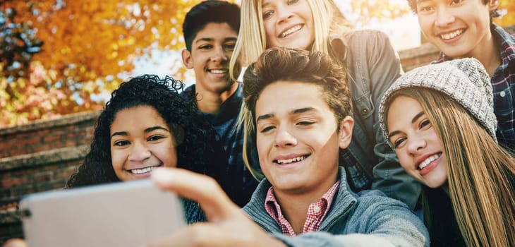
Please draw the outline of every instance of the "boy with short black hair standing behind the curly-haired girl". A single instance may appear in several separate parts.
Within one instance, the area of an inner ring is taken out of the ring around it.
[[[239,28],[240,8],[236,4],[202,1],[190,9],[183,22],[186,49],[182,51],[182,59],[195,72],[196,81],[181,96],[195,99],[202,115],[217,131],[218,144],[228,157],[228,179],[241,181],[229,195],[243,207],[257,181],[243,163],[243,131],[237,128],[241,83],[229,76],[229,60]],[[241,70],[241,66],[238,68]]]

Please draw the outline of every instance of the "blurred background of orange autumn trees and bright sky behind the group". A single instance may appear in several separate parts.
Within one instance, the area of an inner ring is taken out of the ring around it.
[[[418,47],[406,0],[334,0],[354,28],[386,32],[398,51]],[[2,0],[0,128],[102,109],[121,81],[143,73],[194,83],[183,67],[181,22],[193,0]],[[239,0],[235,0],[239,4]],[[502,0],[515,23],[515,4]]]

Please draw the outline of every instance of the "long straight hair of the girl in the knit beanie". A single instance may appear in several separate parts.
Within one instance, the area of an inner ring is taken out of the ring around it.
[[[442,140],[449,197],[467,246],[515,246],[513,154],[442,92],[408,88],[389,98],[399,95],[418,100]]]

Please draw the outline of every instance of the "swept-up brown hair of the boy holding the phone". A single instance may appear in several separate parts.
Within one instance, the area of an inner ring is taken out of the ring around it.
[[[322,86],[322,94],[337,124],[352,114],[351,90],[346,73],[323,52],[275,47],[267,49],[243,75],[243,100],[255,124],[255,104],[263,89],[279,80],[296,80]]]

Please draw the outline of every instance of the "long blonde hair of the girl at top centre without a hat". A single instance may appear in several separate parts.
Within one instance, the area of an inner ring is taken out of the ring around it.
[[[339,64],[343,64],[344,61],[339,61],[340,57],[337,57],[330,47],[329,35],[331,33],[344,35],[344,33],[349,30],[349,24],[346,23],[344,16],[341,15],[337,6],[334,4],[334,0],[305,1],[308,1],[313,16],[315,17],[313,18],[315,41],[312,50],[329,54]],[[241,62],[243,66],[248,66],[256,61],[262,52],[268,48],[265,28],[262,21],[261,6],[262,0],[241,1],[241,24],[238,32],[238,40],[236,40],[236,46],[234,47],[231,61],[229,61],[229,74],[234,80],[238,77],[235,73],[239,73],[239,62]],[[253,148],[248,147],[248,143],[251,141],[251,138],[248,138],[248,136],[255,135],[255,130],[253,129],[252,116],[250,116],[244,102],[240,110],[238,122],[238,128],[241,128],[243,125],[245,132],[243,138],[243,161],[249,168],[250,173],[253,174],[257,180],[261,180],[264,177],[263,174],[250,166],[250,157],[248,157],[249,155],[246,151]]]

